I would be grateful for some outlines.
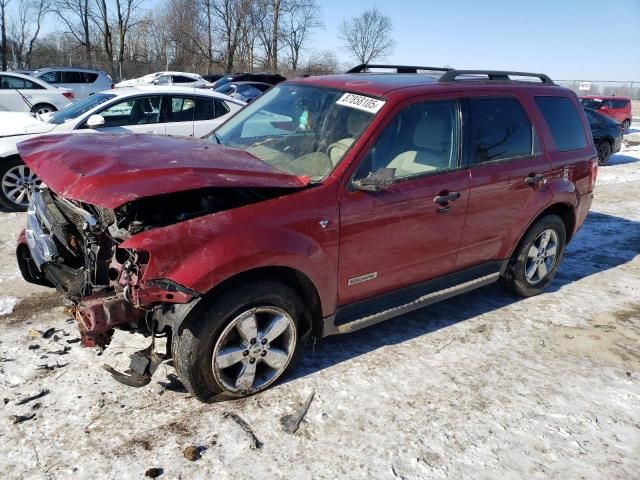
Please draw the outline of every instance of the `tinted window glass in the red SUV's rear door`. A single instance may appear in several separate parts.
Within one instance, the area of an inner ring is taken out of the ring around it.
[[[469,105],[473,163],[525,157],[534,153],[533,128],[518,100],[472,98]]]

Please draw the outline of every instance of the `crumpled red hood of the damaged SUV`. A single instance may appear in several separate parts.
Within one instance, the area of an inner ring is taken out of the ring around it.
[[[44,135],[19,143],[18,152],[58,195],[105,208],[205,187],[309,183],[242,150],[158,135]]]

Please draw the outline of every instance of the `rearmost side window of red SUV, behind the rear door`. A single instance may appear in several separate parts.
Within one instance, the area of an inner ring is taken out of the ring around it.
[[[587,146],[580,114],[570,98],[536,97],[536,104],[549,125],[558,150],[566,152]]]

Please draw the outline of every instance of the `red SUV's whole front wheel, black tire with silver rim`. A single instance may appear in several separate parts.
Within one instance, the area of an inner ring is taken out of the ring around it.
[[[180,380],[201,401],[265,390],[299,357],[305,314],[300,296],[273,281],[204,299],[173,335]]]

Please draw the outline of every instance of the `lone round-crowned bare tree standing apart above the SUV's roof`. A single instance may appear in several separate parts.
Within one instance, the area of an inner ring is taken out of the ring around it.
[[[391,18],[376,7],[358,17],[344,20],[339,27],[345,50],[358,62],[365,64],[391,54],[395,46],[392,30]]]

